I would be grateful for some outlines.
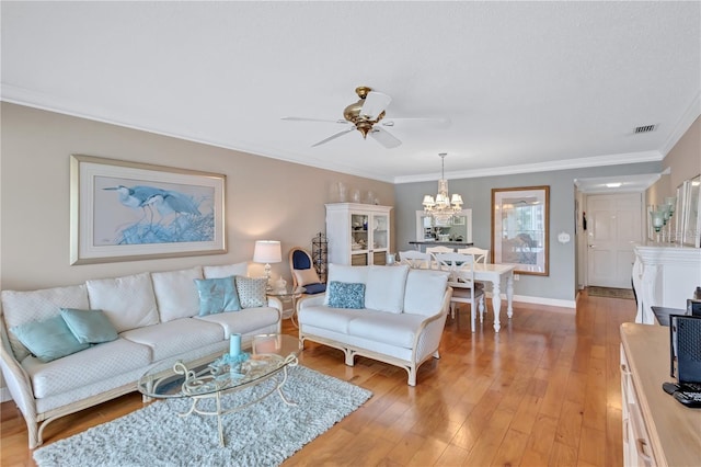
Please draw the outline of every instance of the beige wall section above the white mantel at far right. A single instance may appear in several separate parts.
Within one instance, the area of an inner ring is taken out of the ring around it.
[[[662,204],[666,196],[676,196],[677,186],[701,173],[701,117],[691,124],[687,133],[671,148],[663,161],[669,173],[647,189],[646,204]]]

